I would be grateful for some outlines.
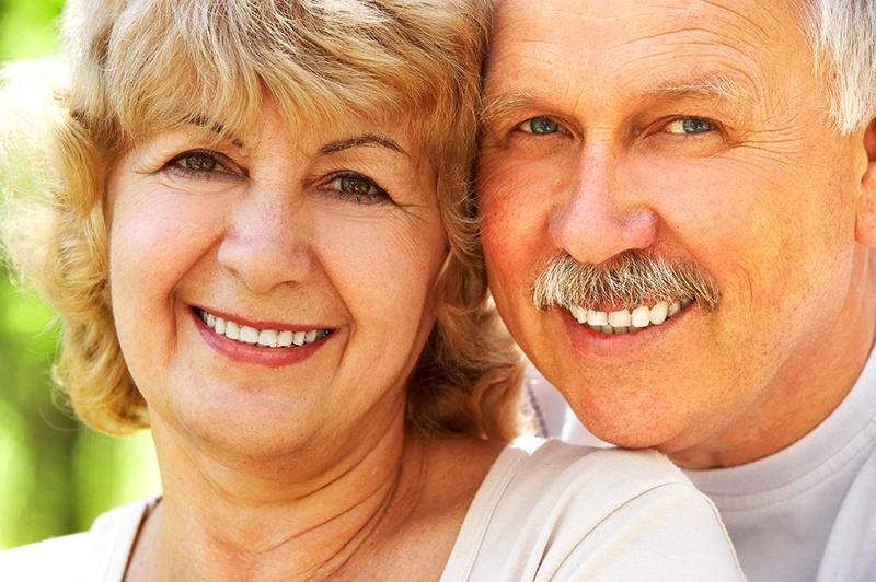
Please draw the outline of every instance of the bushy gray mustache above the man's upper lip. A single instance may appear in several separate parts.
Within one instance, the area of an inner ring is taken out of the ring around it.
[[[532,303],[596,310],[601,305],[637,305],[646,301],[696,298],[715,310],[721,293],[705,269],[692,263],[668,264],[642,252],[626,252],[610,263],[579,263],[569,254],[556,257],[532,286]]]

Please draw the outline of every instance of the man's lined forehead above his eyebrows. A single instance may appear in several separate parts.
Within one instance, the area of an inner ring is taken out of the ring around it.
[[[567,105],[583,88],[607,98],[745,106],[786,63],[811,65],[798,12],[722,1],[503,0],[486,68],[487,118],[545,96]]]

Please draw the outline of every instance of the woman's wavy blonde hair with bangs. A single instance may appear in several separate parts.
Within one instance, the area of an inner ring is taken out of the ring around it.
[[[111,434],[149,422],[110,299],[113,164],[193,118],[221,114],[221,131],[243,133],[270,98],[292,131],[377,116],[425,146],[449,252],[405,418],[426,434],[516,434],[522,359],[489,300],[470,196],[489,16],[488,0],[68,2],[66,58],[47,66],[50,83],[31,74],[43,98],[19,74],[32,63],[7,71],[0,172],[10,264],[59,314],[55,379],[79,417]]]

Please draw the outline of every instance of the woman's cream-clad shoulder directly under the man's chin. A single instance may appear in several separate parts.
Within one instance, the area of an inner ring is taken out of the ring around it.
[[[459,580],[744,580],[714,505],[648,450],[518,439],[463,535],[476,549]]]

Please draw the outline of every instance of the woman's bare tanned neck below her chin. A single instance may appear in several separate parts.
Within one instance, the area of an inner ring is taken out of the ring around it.
[[[220,463],[180,446],[161,424],[153,436],[164,497],[128,581],[337,578],[388,516],[413,511],[423,489],[426,447],[401,422],[324,469],[312,454]]]

